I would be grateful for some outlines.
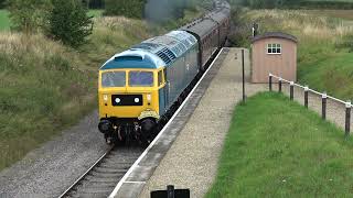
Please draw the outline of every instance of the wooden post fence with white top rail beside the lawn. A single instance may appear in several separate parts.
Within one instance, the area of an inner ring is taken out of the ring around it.
[[[336,101],[339,103],[342,103],[345,106],[345,135],[349,136],[351,132],[351,109],[352,109],[352,102],[349,101],[343,101],[341,99],[334,98],[332,96],[329,96],[327,92],[319,92],[317,90],[310,89],[308,86],[301,86],[299,84],[296,84],[293,81],[286,80],[279,76],[269,74],[268,75],[268,87],[269,90],[272,91],[272,84],[274,84],[274,78],[278,79],[278,91],[282,92],[282,84],[289,84],[289,96],[290,99],[293,100],[295,98],[295,87],[299,87],[304,90],[304,106],[306,108],[309,107],[309,92],[312,92],[314,95],[321,96],[321,116],[322,119],[327,119],[327,103],[328,99],[331,99],[333,101]]]

